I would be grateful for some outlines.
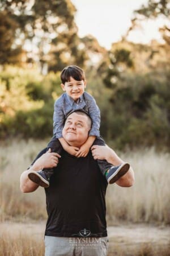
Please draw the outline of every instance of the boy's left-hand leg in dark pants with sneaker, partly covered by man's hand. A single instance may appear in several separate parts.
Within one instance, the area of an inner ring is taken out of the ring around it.
[[[59,155],[62,152],[62,146],[59,143],[59,140],[56,139],[55,136],[50,140],[48,143],[48,146],[46,148],[46,151],[51,148],[52,152],[57,152]],[[54,169],[53,168],[44,168],[40,171],[31,171],[28,174],[29,179],[31,179],[33,182],[39,184],[41,187],[49,187],[49,181],[50,177],[53,175]]]

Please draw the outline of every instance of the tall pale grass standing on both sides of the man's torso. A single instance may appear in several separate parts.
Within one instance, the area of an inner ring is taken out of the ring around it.
[[[45,141],[12,141],[0,146],[0,220],[46,217],[45,193],[39,188],[23,194],[19,190],[20,174],[46,145]],[[132,222],[170,223],[170,158],[168,153],[157,153],[154,148],[120,154],[133,166],[135,184],[121,188],[108,185],[107,218]]]

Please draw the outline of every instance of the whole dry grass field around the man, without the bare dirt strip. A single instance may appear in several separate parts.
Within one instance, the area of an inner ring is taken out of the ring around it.
[[[44,231],[41,229],[41,221],[45,224],[46,218],[44,189],[24,194],[19,189],[19,177],[45,145],[45,141],[15,139],[11,143],[0,143],[0,256],[40,256],[44,253]],[[108,225],[119,226],[124,223],[126,226],[131,223],[169,228],[170,155],[158,153],[154,148],[119,155],[131,163],[135,172],[135,184],[130,188],[121,188],[116,184],[108,186]],[[32,229],[27,232],[30,222],[36,224],[35,235],[32,234]],[[20,229],[16,223],[23,224],[23,228]],[[122,234],[124,232],[126,231],[122,229]],[[157,234],[156,229],[155,233]],[[157,235],[159,240],[159,232]],[[165,244],[156,243],[157,247],[153,242],[143,241],[127,250],[126,241],[125,246],[122,246],[115,239],[110,240],[110,245],[109,256],[170,255],[170,238],[167,238]]]

